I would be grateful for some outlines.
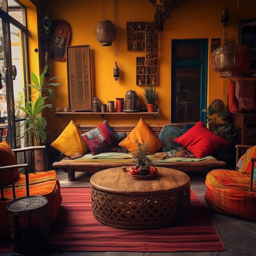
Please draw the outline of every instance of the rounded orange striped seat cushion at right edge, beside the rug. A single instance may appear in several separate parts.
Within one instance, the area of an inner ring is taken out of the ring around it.
[[[250,192],[248,173],[212,170],[205,183],[205,201],[213,210],[256,221],[256,182],[253,183],[253,192]]]

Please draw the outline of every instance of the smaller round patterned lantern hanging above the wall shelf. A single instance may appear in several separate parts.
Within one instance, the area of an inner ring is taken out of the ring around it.
[[[110,20],[100,21],[95,27],[95,36],[102,46],[111,46],[117,37],[116,26]]]

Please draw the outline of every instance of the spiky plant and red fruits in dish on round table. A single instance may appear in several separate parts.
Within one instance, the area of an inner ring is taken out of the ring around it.
[[[157,174],[157,168],[154,166],[152,161],[147,157],[148,154],[152,153],[150,148],[149,142],[147,143],[140,143],[135,140],[137,144],[136,152],[133,153],[134,161],[136,163],[135,167],[131,167],[129,169],[129,173],[132,175],[153,175]]]

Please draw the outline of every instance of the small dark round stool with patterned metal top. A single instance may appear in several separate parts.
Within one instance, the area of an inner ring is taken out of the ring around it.
[[[12,255],[36,255],[45,250],[49,230],[46,226],[46,205],[43,196],[23,196],[11,201],[7,210],[11,213]],[[33,216],[39,215],[39,224],[32,225]],[[24,220],[27,218],[26,220]],[[23,220],[22,220],[23,219]]]

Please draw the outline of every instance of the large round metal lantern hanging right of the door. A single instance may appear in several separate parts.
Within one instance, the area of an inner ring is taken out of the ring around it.
[[[210,64],[220,77],[240,77],[251,64],[251,53],[245,45],[227,44],[213,51]]]

